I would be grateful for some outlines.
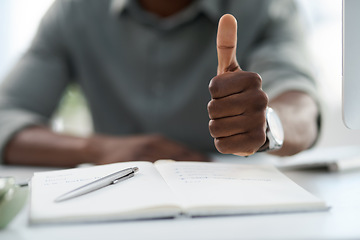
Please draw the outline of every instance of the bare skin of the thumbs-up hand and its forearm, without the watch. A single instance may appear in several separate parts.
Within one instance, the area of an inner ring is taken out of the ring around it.
[[[217,76],[209,84],[209,130],[221,153],[254,154],[266,141],[266,107],[282,120],[285,139],[272,154],[293,155],[307,149],[317,136],[317,105],[302,92],[286,92],[270,101],[257,73],[242,71],[236,60],[237,22],[224,15],[218,26]],[[306,126],[306,127],[304,127]]]

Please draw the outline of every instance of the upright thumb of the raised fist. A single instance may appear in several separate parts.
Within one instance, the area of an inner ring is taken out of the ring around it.
[[[216,47],[218,54],[217,74],[239,71],[236,60],[237,22],[233,15],[225,14],[219,20]]]

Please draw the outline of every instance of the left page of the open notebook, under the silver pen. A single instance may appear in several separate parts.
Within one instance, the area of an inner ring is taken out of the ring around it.
[[[134,177],[64,202],[59,195],[128,167],[138,167]],[[172,191],[149,162],[35,173],[31,182],[30,220],[111,220],[171,216],[178,212]]]

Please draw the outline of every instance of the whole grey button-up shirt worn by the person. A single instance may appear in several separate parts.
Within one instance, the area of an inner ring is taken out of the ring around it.
[[[58,0],[0,89],[0,155],[20,129],[47,124],[78,83],[97,133],[160,133],[214,151],[208,84],[216,75],[217,23],[238,20],[237,59],[259,73],[270,98],[288,90],[316,99],[304,27],[291,0],[194,1],[160,19],[136,1]]]

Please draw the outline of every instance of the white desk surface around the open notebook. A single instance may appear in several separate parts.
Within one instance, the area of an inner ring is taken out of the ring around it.
[[[25,179],[42,168],[0,166],[0,174]],[[297,184],[324,199],[327,212],[177,218],[73,225],[29,226],[28,209],[0,239],[359,239],[360,171],[283,171]]]

